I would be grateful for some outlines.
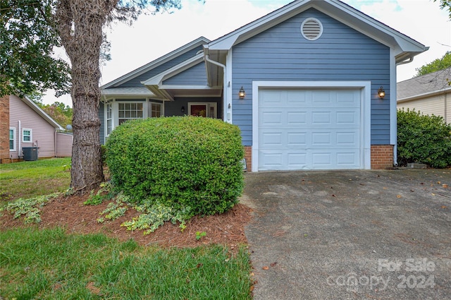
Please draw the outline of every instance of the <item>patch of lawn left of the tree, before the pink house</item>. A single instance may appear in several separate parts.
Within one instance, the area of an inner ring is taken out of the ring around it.
[[[0,164],[0,200],[62,192],[69,186],[70,157]]]

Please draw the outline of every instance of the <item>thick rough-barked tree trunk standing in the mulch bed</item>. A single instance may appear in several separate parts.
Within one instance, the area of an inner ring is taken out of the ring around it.
[[[70,187],[84,193],[104,180],[100,147],[99,54],[106,16],[116,1],[61,0],[58,32],[72,65],[73,149]]]

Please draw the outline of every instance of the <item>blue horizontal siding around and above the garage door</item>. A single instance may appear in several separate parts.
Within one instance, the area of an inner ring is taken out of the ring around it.
[[[306,40],[301,24],[317,18],[318,40]],[[243,145],[252,145],[252,81],[371,80],[371,144],[390,144],[390,48],[314,8],[233,47],[233,123]],[[377,97],[383,85],[384,100]],[[241,86],[246,100],[237,98]]]

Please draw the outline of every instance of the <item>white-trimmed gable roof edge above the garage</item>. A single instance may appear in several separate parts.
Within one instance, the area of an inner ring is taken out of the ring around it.
[[[218,39],[209,42],[208,49],[213,52],[215,50],[218,52],[225,52],[233,47],[233,45],[247,40],[278,23],[282,23],[284,20],[288,20],[309,8],[315,8],[332,18],[339,20],[341,23],[354,28],[354,30],[373,38],[373,40],[394,49],[393,54],[395,55],[397,64],[408,59],[413,59],[415,55],[428,49],[424,44],[416,42],[416,40],[407,37],[407,35],[390,28],[388,25],[371,18],[365,13],[362,13],[362,11],[358,11],[339,0],[293,1],[272,13],[268,13],[266,16],[254,20],[252,23],[244,25],[223,37],[219,37]],[[217,60],[221,61],[221,57],[218,56]]]

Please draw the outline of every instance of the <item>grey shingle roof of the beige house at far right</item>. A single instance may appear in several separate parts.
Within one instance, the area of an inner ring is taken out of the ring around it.
[[[397,102],[451,91],[451,67],[397,83]]]

